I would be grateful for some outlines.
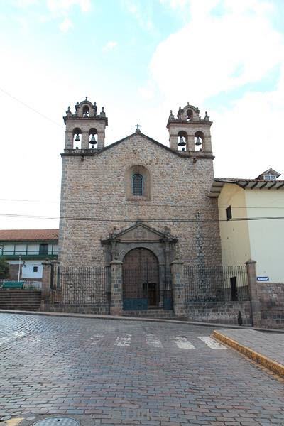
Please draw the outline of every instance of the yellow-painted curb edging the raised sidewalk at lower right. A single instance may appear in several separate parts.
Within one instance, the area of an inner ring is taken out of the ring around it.
[[[244,346],[235,340],[224,336],[224,334],[217,332],[217,330],[214,330],[213,337],[241,352],[241,354],[248,356],[249,358],[253,359],[253,361],[256,361],[258,364],[268,368],[268,370],[271,370],[274,373],[277,373],[279,376],[284,377],[284,366],[279,364],[277,361],[273,361],[273,359],[267,358],[267,356],[258,354],[258,352],[253,351],[253,349],[250,349],[247,346]]]

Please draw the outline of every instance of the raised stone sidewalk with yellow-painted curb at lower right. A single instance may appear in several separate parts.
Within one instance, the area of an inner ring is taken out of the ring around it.
[[[284,334],[222,329],[214,330],[213,336],[284,377]]]

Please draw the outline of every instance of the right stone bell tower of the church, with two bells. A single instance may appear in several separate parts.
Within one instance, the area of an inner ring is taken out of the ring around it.
[[[198,107],[188,102],[178,109],[176,118],[170,111],[167,124],[170,148],[190,157],[212,157],[211,125],[207,112],[202,119]]]

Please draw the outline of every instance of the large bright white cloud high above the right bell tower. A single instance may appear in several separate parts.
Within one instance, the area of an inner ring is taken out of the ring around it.
[[[160,90],[179,102],[185,94],[203,102],[261,80],[283,61],[283,35],[263,14],[266,3],[258,2],[263,8],[251,14],[254,3],[248,0],[246,8],[242,3],[242,8],[217,17],[209,13],[216,1],[207,1],[207,8],[202,1],[192,1],[190,23],[160,43],[151,60],[150,73]]]

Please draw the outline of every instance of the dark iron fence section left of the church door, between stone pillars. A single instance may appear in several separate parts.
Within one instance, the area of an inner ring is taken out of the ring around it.
[[[110,301],[110,271],[107,266],[57,266],[50,275],[50,303],[103,305]]]

